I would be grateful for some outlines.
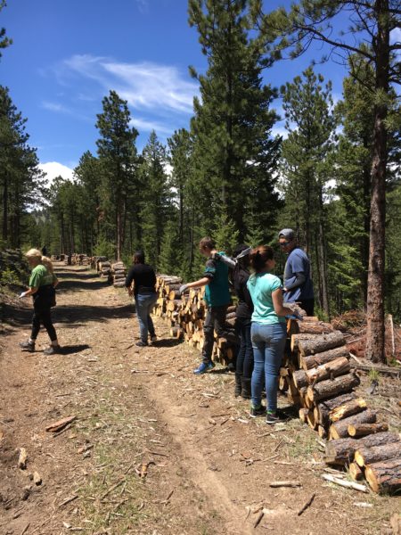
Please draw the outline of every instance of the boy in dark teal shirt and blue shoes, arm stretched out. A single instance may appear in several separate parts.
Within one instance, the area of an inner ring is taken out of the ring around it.
[[[212,258],[217,253],[215,243],[211,238],[202,238],[199,250],[208,259],[203,276],[198,281],[183,284],[180,288],[180,292],[184,293],[188,288],[206,286],[203,298],[208,308],[203,324],[205,342],[203,343],[201,365],[193,371],[194,374],[204,374],[215,367],[211,359],[215,342],[214,331],[217,332],[219,338],[225,337],[225,316],[227,307],[231,302],[228,288],[228,268],[223,262]],[[218,254],[224,255],[225,253],[219,251]]]

